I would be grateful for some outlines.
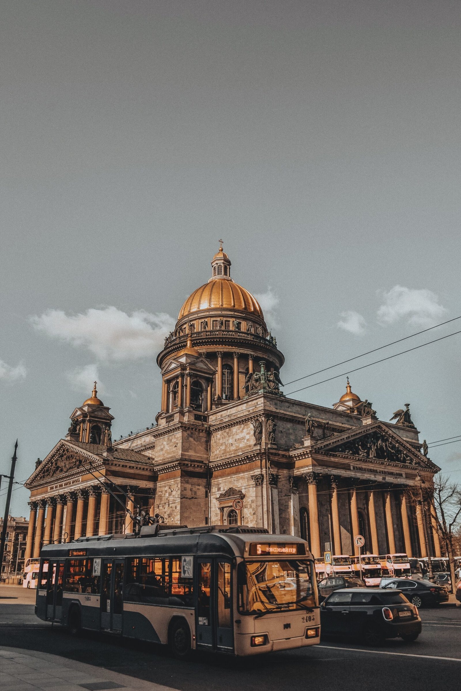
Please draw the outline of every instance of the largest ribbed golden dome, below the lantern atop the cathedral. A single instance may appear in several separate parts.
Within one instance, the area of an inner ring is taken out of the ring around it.
[[[179,311],[178,321],[201,310],[237,310],[264,319],[262,309],[253,295],[231,278],[213,278],[188,297]]]

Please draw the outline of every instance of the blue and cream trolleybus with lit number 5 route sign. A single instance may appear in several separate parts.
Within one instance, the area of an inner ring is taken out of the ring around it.
[[[36,612],[69,627],[253,655],[320,641],[305,540],[260,528],[141,528],[45,545]]]

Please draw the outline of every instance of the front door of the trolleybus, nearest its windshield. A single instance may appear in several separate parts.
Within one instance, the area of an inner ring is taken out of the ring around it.
[[[197,647],[230,652],[234,648],[230,562],[197,563]]]

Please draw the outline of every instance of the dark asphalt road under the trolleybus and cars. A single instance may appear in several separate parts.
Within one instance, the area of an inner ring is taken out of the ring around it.
[[[0,604],[0,645],[62,655],[180,691],[304,691],[307,686],[322,691],[458,691],[461,607],[423,609],[421,614],[423,632],[415,643],[397,639],[365,648],[350,640],[323,641],[251,659],[197,654],[178,662],[162,648],[107,634],[72,638],[59,625],[35,618],[31,605]]]

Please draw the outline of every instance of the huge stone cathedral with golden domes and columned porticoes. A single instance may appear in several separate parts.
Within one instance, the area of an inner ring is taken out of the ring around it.
[[[358,553],[357,534],[363,552],[440,556],[435,519],[410,500],[440,468],[409,404],[383,422],[348,379],[331,408],[284,396],[284,356],[230,267],[220,246],[165,338],[156,424],[114,441],[95,382],[64,439],[37,461],[26,559],[50,542],[132,532],[125,509],[172,525],[302,536],[315,557]]]

